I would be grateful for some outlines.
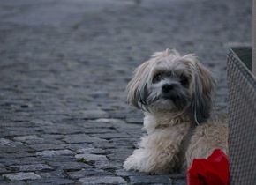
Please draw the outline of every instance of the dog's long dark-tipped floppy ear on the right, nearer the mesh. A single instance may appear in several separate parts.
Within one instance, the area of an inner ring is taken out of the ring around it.
[[[196,61],[191,86],[192,120],[200,124],[211,115],[213,107],[212,93],[215,90],[215,78],[209,70]]]

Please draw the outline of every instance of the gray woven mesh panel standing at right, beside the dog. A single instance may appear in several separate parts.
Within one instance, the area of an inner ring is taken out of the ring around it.
[[[227,60],[230,184],[252,185],[256,184],[256,80],[237,56],[240,53],[252,63],[252,52],[233,49]]]

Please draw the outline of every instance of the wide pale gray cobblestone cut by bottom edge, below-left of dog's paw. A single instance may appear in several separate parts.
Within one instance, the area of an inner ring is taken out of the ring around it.
[[[95,176],[95,177],[85,177],[79,179],[82,184],[127,184],[121,177],[115,176]]]

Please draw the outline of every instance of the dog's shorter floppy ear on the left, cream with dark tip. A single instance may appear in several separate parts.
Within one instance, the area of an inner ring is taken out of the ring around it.
[[[132,80],[126,86],[127,103],[139,109],[144,109],[147,106],[147,78],[149,70],[149,61],[139,65],[133,73]]]

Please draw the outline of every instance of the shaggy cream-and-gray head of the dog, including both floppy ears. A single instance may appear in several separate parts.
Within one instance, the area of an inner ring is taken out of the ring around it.
[[[194,55],[166,49],[134,71],[126,88],[127,102],[147,112],[190,114],[200,123],[210,115],[214,88],[212,74]]]

